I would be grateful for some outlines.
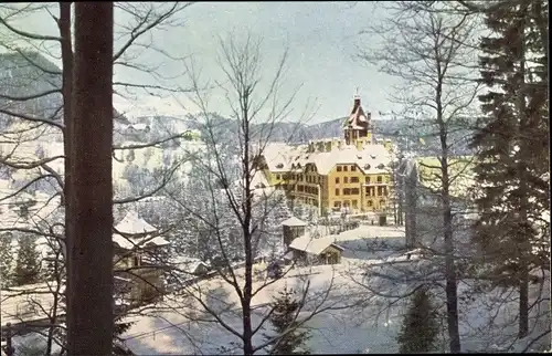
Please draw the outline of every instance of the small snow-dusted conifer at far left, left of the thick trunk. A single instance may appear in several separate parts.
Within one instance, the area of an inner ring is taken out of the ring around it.
[[[36,239],[23,235],[18,239],[18,256],[15,260],[14,284],[33,284],[40,280],[40,253],[36,251]]]

